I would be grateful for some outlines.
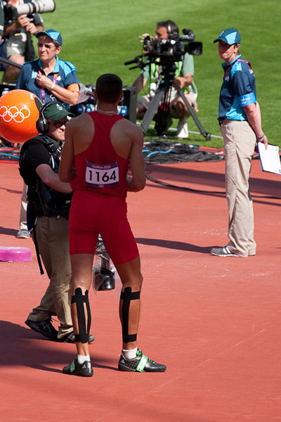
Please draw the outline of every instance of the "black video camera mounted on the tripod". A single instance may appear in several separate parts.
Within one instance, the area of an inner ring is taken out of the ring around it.
[[[202,54],[202,42],[193,41],[195,33],[192,30],[183,30],[183,35],[169,34],[168,39],[160,39],[144,34],[140,37],[143,41],[143,54],[136,56],[133,60],[126,61],[125,65],[137,63],[131,69],[141,68],[161,58],[162,63],[175,63],[182,59],[185,53],[192,56]],[[143,60],[145,58],[145,60]]]

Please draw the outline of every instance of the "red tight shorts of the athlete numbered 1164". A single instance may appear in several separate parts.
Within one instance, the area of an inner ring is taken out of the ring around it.
[[[124,198],[76,191],[70,207],[70,255],[93,255],[100,234],[114,264],[134,260],[138,246],[126,213]]]

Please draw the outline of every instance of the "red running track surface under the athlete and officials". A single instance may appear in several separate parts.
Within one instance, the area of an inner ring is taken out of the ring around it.
[[[169,184],[223,192],[224,162],[149,165]],[[25,326],[48,285],[30,239],[17,239],[22,181],[18,165],[0,165],[0,245],[32,250],[32,262],[0,262],[1,422],[281,421],[281,178],[254,160],[257,255],[214,257],[227,242],[221,193],[184,191],[151,181],[129,194],[129,219],[144,276],[138,344],[166,373],[117,371],[120,283],[91,291],[96,341],[93,378],[61,369],[74,345]]]

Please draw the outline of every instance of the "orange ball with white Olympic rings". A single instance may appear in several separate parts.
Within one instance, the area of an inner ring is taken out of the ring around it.
[[[30,91],[13,89],[0,98],[0,136],[22,143],[37,136],[36,121],[42,103]]]

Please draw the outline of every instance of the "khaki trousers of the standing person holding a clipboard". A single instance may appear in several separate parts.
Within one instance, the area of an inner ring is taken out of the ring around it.
[[[228,248],[241,257],[247,257],[256,253],[254,210],[249,193],[249,174],[256,136],[248,122],[228,119],[221,124],[221,134],[226,154]]]

